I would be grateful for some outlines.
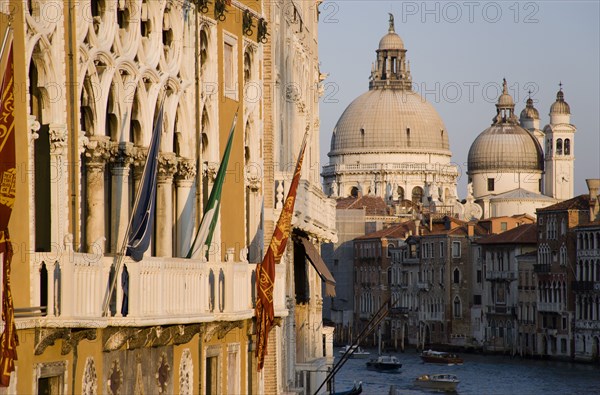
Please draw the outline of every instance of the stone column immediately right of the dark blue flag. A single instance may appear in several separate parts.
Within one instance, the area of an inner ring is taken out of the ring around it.
[[[158,158],[156,191],[156,256],[173,255],[173,175],[177,158],[173,152],[161,152]]]

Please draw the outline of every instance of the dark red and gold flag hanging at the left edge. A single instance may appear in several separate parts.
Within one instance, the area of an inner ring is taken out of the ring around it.
[[[10,28],[9,28],[10,29]],[[9,32],[7,31],[7,35]],[[2,260],[2,321],[4,332],[0,337],[0,387],[8,387],[10,373],[15,370],[17,359],[17,328],[10,292],[10,261],[12,245],[8,234],[8,220],[15,202],[15,118],[13,92],[12,39],[5,38],[8,50],[6,70],[0,87],[0,259]]]

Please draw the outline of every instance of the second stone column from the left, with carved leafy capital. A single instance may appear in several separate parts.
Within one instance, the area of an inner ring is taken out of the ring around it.
[[[86,156],[86,230],[87,252],[97,255],[105,250],[104,168],[110,157],[110,137],[92,136],[85,145]]]

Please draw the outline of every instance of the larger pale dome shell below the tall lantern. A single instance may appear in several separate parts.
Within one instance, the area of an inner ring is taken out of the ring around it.
[[[448,133],[435,108],[412,91],[373,89],[346,108],[329,155],[418,151],[450,155]]]

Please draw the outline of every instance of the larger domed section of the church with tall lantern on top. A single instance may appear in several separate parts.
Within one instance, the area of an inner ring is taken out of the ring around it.
[[[456,204],[458,170],[450,163],[448,132],[435,108],[412,90],[406,49],[391,14],[376,53],[369,90],[333,130],[322,174],[325,191],[332,197],[375,195],[388,204]]]

